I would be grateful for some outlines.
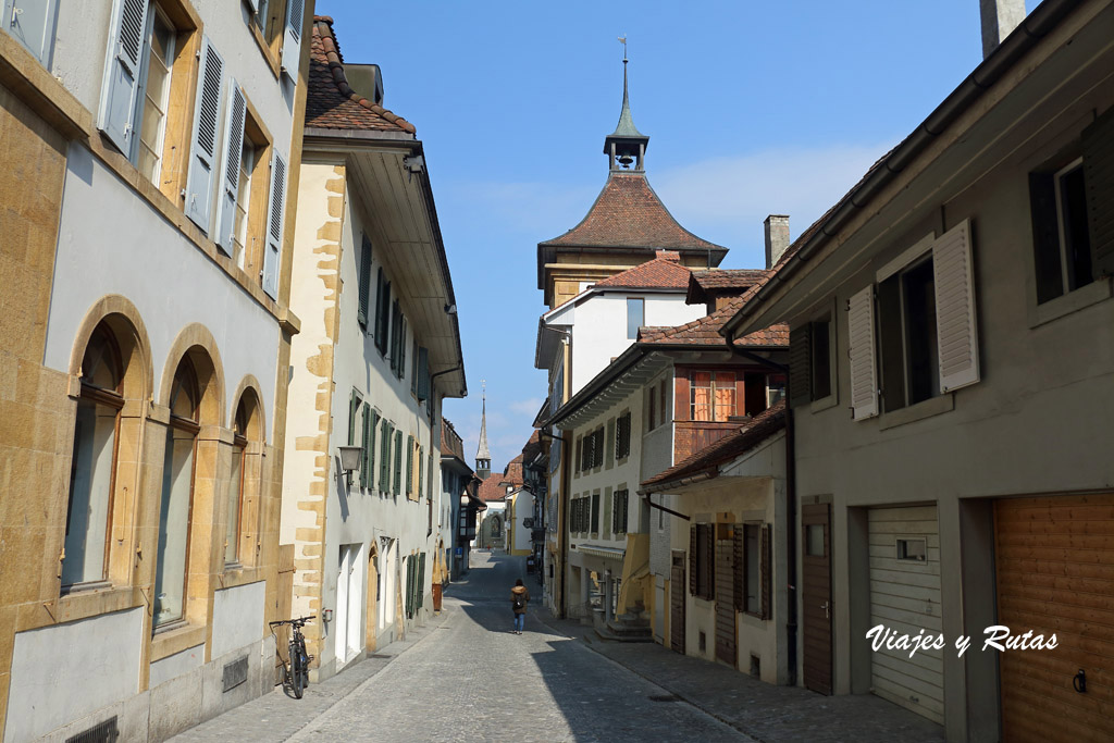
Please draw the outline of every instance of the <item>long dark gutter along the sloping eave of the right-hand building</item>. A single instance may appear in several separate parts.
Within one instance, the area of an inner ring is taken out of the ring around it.
[[[773,292],[786,283],[809,257],[824,247],[848,223],[864,209],[881,190],[892,183],[937,137],[945,133],[967,111],[981,95],[1014,66],[1026,52],[1048,35],[1059,21],[1074,10],[1081,0],[1044,0],[1024,21],[1006,37],[995,51],[983,60],[951,94],[936,107],[912,134],[905,138],[874,168],[874,173],[843,197],[812,236],[789,257],[770,280],[726,323],[723,332],[733,332],[753,315]]]

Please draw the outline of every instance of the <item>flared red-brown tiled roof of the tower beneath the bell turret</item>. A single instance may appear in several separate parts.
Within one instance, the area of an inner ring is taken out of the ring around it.
[[[664,247],[674,251],[711,250],[721,254],[727,251],[677,224],[649,187],[644,174],[622,172],[607,177],[604,189],[580,224],[538,246]]]

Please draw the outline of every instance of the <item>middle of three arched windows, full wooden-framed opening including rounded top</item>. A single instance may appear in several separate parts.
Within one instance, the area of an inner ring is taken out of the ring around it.
[[[194,460],[201,431],[201,391],[188,358],[182,360],[170,388],[170,424],[166,429],[163,500],[158,516],[158,566],[155,573],[155,626],[185,616],[186,547],[194,490]]]

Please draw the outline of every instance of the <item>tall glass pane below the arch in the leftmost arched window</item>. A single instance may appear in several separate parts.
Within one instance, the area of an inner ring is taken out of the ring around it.
[[[62,585],[102,580],[111,498],[115,408],[78,400]]]

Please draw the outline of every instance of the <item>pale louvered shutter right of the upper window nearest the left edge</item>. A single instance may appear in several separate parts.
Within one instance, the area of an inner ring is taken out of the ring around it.
[[[189,174],[186,176],[186,216],[206,235],[213,205],[213,176],[216,170],[223,77],[224,59],[206,37],[202,39],[197,102],[194,107],[194,138],[189,149]]]

